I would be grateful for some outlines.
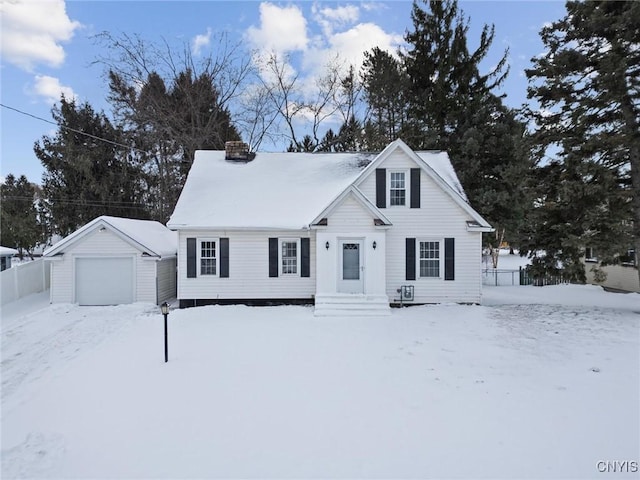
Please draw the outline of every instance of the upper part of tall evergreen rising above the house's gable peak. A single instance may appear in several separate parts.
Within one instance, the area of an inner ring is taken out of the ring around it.
[[[469,20],[458,10],[456,0],[429,0],[423,10],[414,0],[413,31],[407,32],[408,50],[401,54],[409,77],[406,99],[412,120],[412,136],[406,141],[414,149],[451,148],[459,137],[458,126],[507,75],[507,52],[493,71],[480,74],[479,64],[493,43],[494,27],[485,25],[479,46],[469,52]]]

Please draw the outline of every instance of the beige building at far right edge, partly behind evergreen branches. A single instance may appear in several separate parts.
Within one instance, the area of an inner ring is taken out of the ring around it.
[[[587,247],[584,258],[587,283],[602,285],[613,290],[640,292],[638,257],[635,250],[628,250],[619,260],[620,263],[617,265],[602,266],[598,261],[597,252],[593,248]],[[601,269],[606,274],[606,279],[598,281],[597,275],[591,270],[592,267]]]

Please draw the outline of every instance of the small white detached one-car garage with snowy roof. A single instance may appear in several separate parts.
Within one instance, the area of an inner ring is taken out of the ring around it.
[[[45,250],[51,302],[161,303],[176,296],[177,235],[159,222],[98,217]]]

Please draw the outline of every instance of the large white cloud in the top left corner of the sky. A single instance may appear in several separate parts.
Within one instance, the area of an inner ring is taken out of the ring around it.
[[[62,65],[61,43],[81,27],[67,16],[64,0],[3,0],[0,13],[2,57],[27,71],[37,64]]]

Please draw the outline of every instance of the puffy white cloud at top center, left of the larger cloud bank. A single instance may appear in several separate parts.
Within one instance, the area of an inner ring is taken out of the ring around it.
[[[251,44],[262,51],[288,53],[307,48],[307,20],[296,5],[279,7],[269,2],[260,4],[260,26],[246,33]]]

